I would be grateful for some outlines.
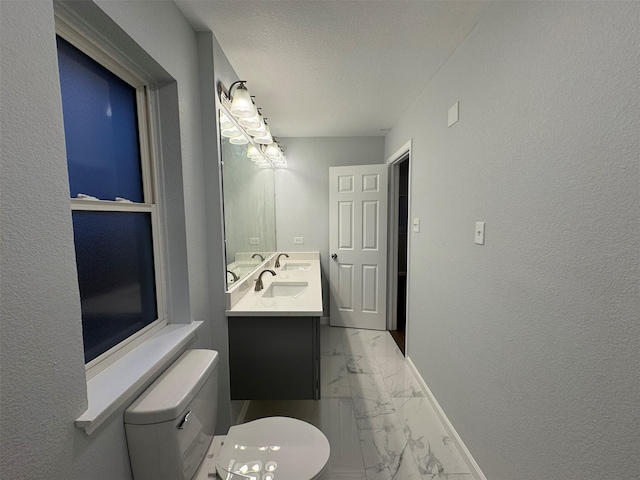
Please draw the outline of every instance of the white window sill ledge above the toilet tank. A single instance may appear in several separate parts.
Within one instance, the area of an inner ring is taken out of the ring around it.
[[[202,322],[171,324],[137,346],[87,382],[89,408],[76,419],[76,427],[91,435],[111,414],[195,336]]]

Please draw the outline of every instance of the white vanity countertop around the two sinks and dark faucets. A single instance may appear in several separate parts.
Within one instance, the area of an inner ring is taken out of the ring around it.
[[[275,262],[275,256],[273,261]],[[236,317],[321,317],[322,281],[319,252],[289,253],[289,258],[280,257],[280,268],[273,267],[272,262],[268,263],[269,266],[260,268],[257,273],[268,268],[276,272],[276,276],[268,272],[262,275],[264,289],[259,292],[253,288],[257,274],[248,278],[246,281],[251,288],[248,288],[242,298],[226,311],[226,315]],[[309,270],[287,271],[286,268],[283,270],[289,263],[308,263],[310,267]],[[274,282],[307,282],[308,286],[304,292],[296,297],[264,297],[263,295]]]

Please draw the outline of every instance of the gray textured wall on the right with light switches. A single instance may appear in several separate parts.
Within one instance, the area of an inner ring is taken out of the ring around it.
[[[496,3],[386,138],[413,139],[409,356],[492,480],[640,478],[638,25]]]

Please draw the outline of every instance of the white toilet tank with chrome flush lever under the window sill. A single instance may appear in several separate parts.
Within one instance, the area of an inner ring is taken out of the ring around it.
[[[135,480],[191,480],[216,427],[218,352],[188,350],[124,412]]]

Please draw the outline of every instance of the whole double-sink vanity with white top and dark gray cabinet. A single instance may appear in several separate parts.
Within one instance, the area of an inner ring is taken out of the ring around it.
[[[233,400],[320,398],[322,283],[317,252],[268,259],[228,292]],[[261,276],[263,289],[255,291]]]

